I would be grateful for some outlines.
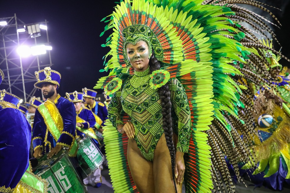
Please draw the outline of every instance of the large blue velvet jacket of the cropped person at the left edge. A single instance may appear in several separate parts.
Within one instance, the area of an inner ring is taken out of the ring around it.
[[[0,102],[0,192],[1,187],[15,188],[28,168],[30,142],[24,114]]]

